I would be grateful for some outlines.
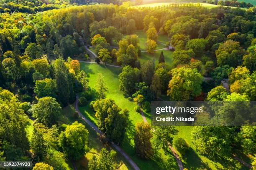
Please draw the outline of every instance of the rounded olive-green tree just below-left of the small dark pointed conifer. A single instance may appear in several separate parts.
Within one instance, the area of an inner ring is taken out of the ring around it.
[[[152,77],[154,75],[154,63],[152,61],[143,62],[141,65],[141,77],[143,82],[151,85]]]

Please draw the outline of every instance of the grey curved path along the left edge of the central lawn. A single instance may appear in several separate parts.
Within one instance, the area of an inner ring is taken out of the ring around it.
[[[101,130],[99,130],[95,124],[93,124],[90,120],[88,120],[86,117],[84,117],[84,115],[82,115],[82,113],[79,111],[78,99],[79,99],[79,97],[77,96],[77,100],[75,102],[75,110],[78,112],[79,117],[81,117],[82,120],[84,120],[84,122],[86,122],[88,125],[90,125],[90,127],[92,127],[92,129],[95,130],[97,133],[99,133],[100,135],[104,135],[104,133]],[[113,148],[115,148],[119,153],[121,153],[121,155],[123,155],[123,157],[126,159],[126,161],[128,163],[130,163],[131,167],[134,170],[140,170],[140,168],[138,168],[138,165],[136,165],[136,163],[133,162],[133,160],[118,145],[115,145],[114,143],[112,143],[108,138],[107,138],[107,140]]]

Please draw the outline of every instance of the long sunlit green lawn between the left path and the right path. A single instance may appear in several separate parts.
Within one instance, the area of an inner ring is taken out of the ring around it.
[[[121,71],[120,68],[109,66],[106,67],[105,65],[97,65],[92,63],[80,64],[81,70],[84,70],[88,75],[90,87],[95,87],[97,73],[101,72],[109,90],[107,97],[115,100],[116,104],[122,109],[127,108],[130,111],[130,123],[121,148],[136,162],[141,170],[176,170],[177,164],[174,157],[172,155],[164,155],[162,150],[157,152],[152,160],[141,160],[136,156],[133,148],[134,126],[137,122],[141,122],[143,120],[141,115],[134,111],[136,104],[131,99],[125,98],[123,93],[119,90],[118,74]],[[92,112],[88,106],[79,107],[79,110],[96,124],[96,117],[94,116],[94,112]],[[149,117],[147,117],[147,119],[149,119]]]

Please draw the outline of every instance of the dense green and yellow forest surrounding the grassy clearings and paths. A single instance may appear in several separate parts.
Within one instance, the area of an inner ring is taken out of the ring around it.
[[[77,94],[79,105],[94,110],[97,126],[106,137],[123,145],[129,110],[106,97],[104,75],[98,76],[96,89],[89,86],[87,72],[79,63],[90,60],[89,46],[98,56],[95,62],[122,67],[119,88],[138,104],[138,112],[148,112],[150,102],[163,95],[176,101],[256,100],[256,7],[81,5],[85,3],[1,1],[1,160],[31,160],[34,169],[56,170],[65,169],[60,158],[79,160],[89,150],[87,129],[80,122],[59,123],[61,108],[74,103]],[[165,62],[164,53],[157,64],[140,62],[143,51],[133,34],[136,30],[146,32],[149,54],[155,52],[160,35],[168,36],[166,47],[174,48],[172,63]],[[204,81],[205,77],[211,78]],[[222,86],[223,80],[229,89]],[[26,130],[29,120],[34,121],[31,139]],[[225,158],[233,150],[253,155],[255,130],[255,126],[195,126],[192,143],[198,153],[212,160]],[[138,123],[134,150],[142,160],[151,159],[157,148],[168,154],[175,134],[174,126],[154,127],[152,132],[149,124]],[[179,140],[174,145],[186,154],[187,143]],[[254,158],[253,168],[255,162]],[[105,149],[89,161],[90,170],[115,168]]]

